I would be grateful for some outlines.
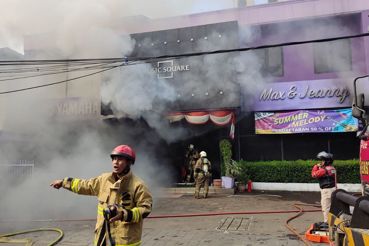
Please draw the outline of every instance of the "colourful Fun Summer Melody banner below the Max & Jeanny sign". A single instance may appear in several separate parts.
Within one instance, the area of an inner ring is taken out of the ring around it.
[[[351,108],[280,113],[255,112],[256,134],[356,131],[358,121],[352,117]]]

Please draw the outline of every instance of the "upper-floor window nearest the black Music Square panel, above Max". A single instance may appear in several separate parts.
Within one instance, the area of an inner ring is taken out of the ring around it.
[[[264,77],[284,76],[283,48],[257,49],[254,51],[261,64]]]

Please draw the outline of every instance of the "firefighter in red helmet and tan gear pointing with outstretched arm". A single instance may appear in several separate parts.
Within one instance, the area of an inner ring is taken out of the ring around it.
[[[130,146],[118,146],[110,157],[112,173],[89,180],[67,177],[50,186],[97,196],[96,246],[105,246],[108,240],[111,246],[138,246],[141,245],[143,219],[151,212],[152,197],[145,182],[131,171],[136,155]]]

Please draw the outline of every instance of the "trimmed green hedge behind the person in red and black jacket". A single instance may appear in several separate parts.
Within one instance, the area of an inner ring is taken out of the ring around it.
[[[253,182],[318,183],[317,179],[311,177],[311,169],[319,163],[318,160],[246,162],[241,159],[238,162],[242,163],[242,169],[247,170]],[[358,159],[334,160],[333,166],[337,170],[337,183],[360,183]]]

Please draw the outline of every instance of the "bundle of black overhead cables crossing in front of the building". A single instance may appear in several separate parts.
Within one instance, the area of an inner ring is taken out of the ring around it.
[[[76,77],[76,78],[73,78],[73,79],[63,80],[63,81],[50,83],[50,84],[44,84],[44,85],[41,85],[41,86],[28,87],[28,88],[19,89],[19,90],[5,91],[5,92],[1,92],[0,94],[12,93],[12,92],[23,91],[23,90],[30,90],[30,89],[35,89],[35,88],[39,88],[39,87],[50,86],[50,85],[53,85],[53,84],[68,82],[68,81],[71,81],[71,80],[76,80],[76,79],[80,79],[80,78],[83,78],[83,77],[95,75],[97,73],[102,73],[102,72],[105,72],[107,70],[110,70],[110,69],[113,69],[113,68],[116,68],[116,67],[121,67],[121,66],[137,65],[137,64],[142,64],[142,63],[158,62],[158,61],[167,60],[167,59],[180,59],[180,58],[188,58],[188,57],[192,57],[192,56],[202,56],[202,55],[209,55],[209,54],[242,52],[242,51],[250,51],[250,50],[256,50],[256,49],[275,48],[275,47],[281,47],[281,46],[309,44],[309,43],[321,43],[321,42],[329,42],[329,41],[336,41],[336,40],[349,39],[349,38],[359,38],[359,37],[366,37],[366,36],[369,36],[369,33],[362,33],[362,34],[356,34],[356,35],[344,36],[344,37],[336,37],[336,38],[315,39],[315,40],[309,40],[309,41],[287,42],[287,43],[274,44],[274,45],[261,45],[261,46],[255,46],[255,47],[249,47],[249,48],[223,49],[223,50],[217,50],[217,51],[175,54],[175,55],[132,57],[132,58],[128,58],[129,61],[127,61],[127,58],[73,59],[73,60],[25,60],[25,61],[8,60],[8,61],[0,61],[0,68],[1,68],[1,66],[5,66],[5,65],[25,66],[25,65],[58,64],[58,65],[55,65],[55,66],[63,67],[63,66],[65,66],[63,64],[72,64],[74,66],[80,66],[80,65],[87,65],[87,64],[88,65],[93,65],[93,64],[96,64],[96,63],[101,63],[100,65],[96,65],[96,66],[81,67],[81,68],[77,68],[77,69],[73,69],[73,70],[63,69],[63,71],[59,71],[59,72],[50,71],[52,73],[43,73],[43,74],[40,74],[40,75],[31,75],[31,76],[27,76],[27,77],[52,75],[52,74],[55,74],[55,73],[72,72],[72,71],[80,71],[80,70],[102,69],[102,68],[108,67],[108,68],[100,70],[98,72],[90,73],[90,74],[84,75],[84,76],[79,76],[79,77]],[[91,63],[91,62],[96,62],[96,63]],[[120,63],[120,64],[119,65],[114,65],[114,63]],[[110,64],[110,66],[107,66],[108,64]],[[38,67],[37,66],[33,67],[33,69],[35,69],[35,68],[38,68]],[[34,70],[32,70],[32,71],[34,72]],[[27,72],[30,72],[30,70],[28,70]],[[1,69],[0,69],[0,73],[1,73]],[[22,77],[22,78],[27,78],[27,77]],[[0,80],[0,81],[13,80],[13,79],[20,79],[20,78],[3,79],[3,80]]]

